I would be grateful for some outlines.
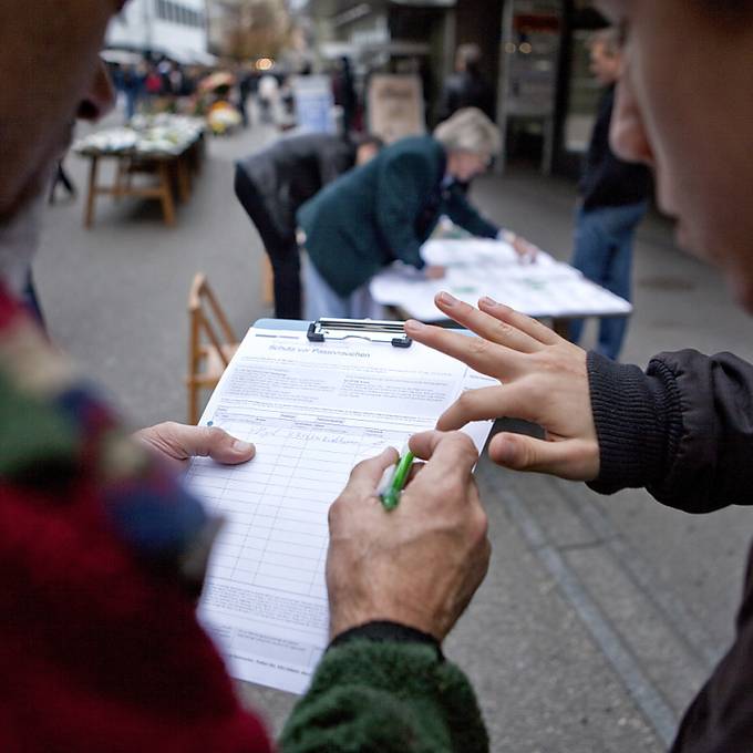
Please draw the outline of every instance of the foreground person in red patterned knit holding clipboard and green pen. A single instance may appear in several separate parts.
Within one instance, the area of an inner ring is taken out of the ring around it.
[[[179,477],[193,455],[243,463],[254,447],[173,423],[130,436],[20,302],[33,207],[71,124],[113,104],[99,50],[124,4],[0,3],[0,750],[268,753],[196,618],[218,526]],[[375,496],[394,450],[359,465],[330,509],[333,640],[285,753],[488,750],[441,651],[488,566],[477,453],[458,433],[412,448],[427,462],[398,510]]]

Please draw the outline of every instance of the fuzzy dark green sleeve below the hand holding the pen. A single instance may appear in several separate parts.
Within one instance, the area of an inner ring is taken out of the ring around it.
[[[353,640],[331,648],[298,702],[281,753],[485,753],[471,684],[431,647]]]

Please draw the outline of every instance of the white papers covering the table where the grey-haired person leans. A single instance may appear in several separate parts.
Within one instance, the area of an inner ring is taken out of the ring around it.
[[[447,290],[475,305],[482,296],[532,317],[625,316],[630,303],[584,278],[569,265],[539,252],[535,264],[520,264],[515,251],[494,240],[431,240],[422,255],[429,264],[446,267],[440,280],[427,280],[413,268],[393,266],[370,286],[374,300],[399,306],[422,321],[444,314],[434,297]]]

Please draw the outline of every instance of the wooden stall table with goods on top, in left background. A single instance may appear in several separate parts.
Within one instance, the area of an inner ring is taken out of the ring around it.
[[[166,225],[176,221],[176,200],[188,202],[193,177],[200,169],[204,155],[204,126],[195,118],[162,121],[142,118],[141,128],[111,128],[92,134],[74,145],[74,151],[90,159],[89,185],[84,207],[84,227],[94,224],[99,196],[156,199],[162,205]],[[101,183],[100,164],[115,159],[112,184]],[[151,175],[149,185],[135,184],[134,175]]]

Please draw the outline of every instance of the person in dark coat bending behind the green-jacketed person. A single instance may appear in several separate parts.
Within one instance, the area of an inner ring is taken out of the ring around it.
[[[368,162],[380,147],[374,136],[350,141],[305,134],[282,138],[236,164],[236,195],[271,261],[278,319],[301,318],[296,212],[322,186]]]

